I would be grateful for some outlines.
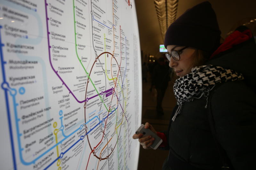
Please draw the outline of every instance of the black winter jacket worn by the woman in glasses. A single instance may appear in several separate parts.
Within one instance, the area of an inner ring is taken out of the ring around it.
[[[256,161],[256,45],[252,37],[216,55],[206,64],[236,70],[244,80],[217,85],[208,98],[216,137],[236,170],[255,169]],[[185,102],[165,131],[172,170],[221,169],[220,155],[208,120],[206,97]],[[174,107],[172,116],[177,106]],[[172,119],[171,116],[171,119]],[[160,148],[161,149],[161,148]]]

